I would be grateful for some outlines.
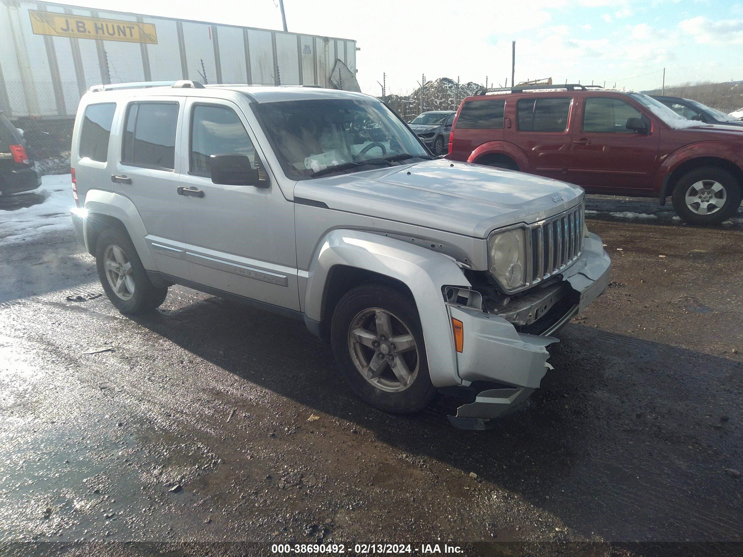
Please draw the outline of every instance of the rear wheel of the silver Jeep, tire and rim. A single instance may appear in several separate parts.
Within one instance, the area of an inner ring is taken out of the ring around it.
[[[95,262],[106,296],[121,313],[147,313],[165,301],[167,287],[155,287],[149,280],[137,249],[125,230],[109,228],[100,233],[96,242]],[[120,271],[123,271],[123,275]],[[114,290],[117,284],[119,287]]]

